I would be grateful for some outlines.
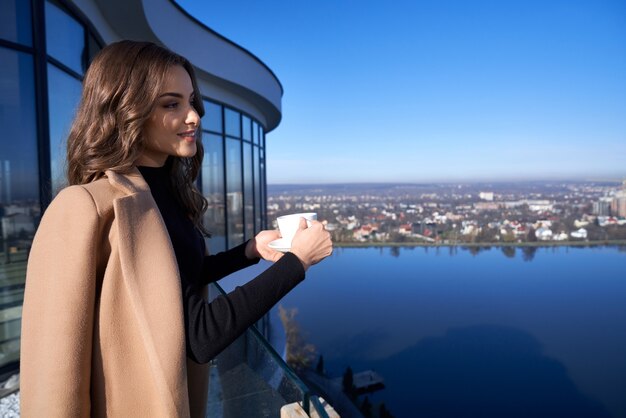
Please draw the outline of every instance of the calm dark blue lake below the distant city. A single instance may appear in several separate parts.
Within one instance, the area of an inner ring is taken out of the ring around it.
[[[396,417],[626,417],[625,271],[616,247],[337,248],[281,305]]]

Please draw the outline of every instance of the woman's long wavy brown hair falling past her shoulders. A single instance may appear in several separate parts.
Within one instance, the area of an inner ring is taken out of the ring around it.
[[[116,42],[98,53],[83,80],[80,105],[67,140],[70,185],[95,181],[106,170],[127,173],[134,167],[144,149],[144,125],[175,65],[189,73],[193,107],[202,117],[202,98],[186,58],[154,43],[136,41]],[[204,156],[201,141],[197,149],[193,157],[169,157],[167,166],[176,198],[196,227],[208,235],[202,224],[207,201],[195,186]]]

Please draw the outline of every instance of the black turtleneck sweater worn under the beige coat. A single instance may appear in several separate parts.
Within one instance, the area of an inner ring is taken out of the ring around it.
[[[304,279],[302,263],[292,253],[259,276],[210,303],[205,286],[258,263],[245,255],[246,243],[216,255],[206,255],[204,238],[176,200],[169,167],[138,167],[150,186],[172,241],[183,292],[187,356],[206,363],[265,315]]]

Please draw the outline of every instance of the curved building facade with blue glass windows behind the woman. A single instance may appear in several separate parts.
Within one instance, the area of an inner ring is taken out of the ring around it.
[[[206,114],[198,186],[211,252],[266,227],[266,133],[282,86],[258,58],[171,0],[0,0],[0,381],[19,362],[30,244],[64,186],[65,138],[91,59],[121,39],[152,41],[196,69]]]

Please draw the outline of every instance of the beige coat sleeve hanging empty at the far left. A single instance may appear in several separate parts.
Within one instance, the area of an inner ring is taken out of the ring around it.
[[[80,186],[46,210],[28,259],[22,311],[24,417],[88,417],[98,213]]]

